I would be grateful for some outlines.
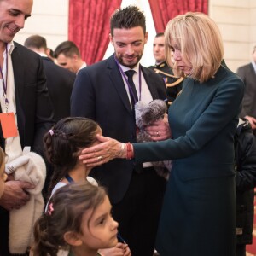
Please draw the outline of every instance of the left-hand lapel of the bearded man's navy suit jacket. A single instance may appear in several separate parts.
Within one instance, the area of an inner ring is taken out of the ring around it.
[[[131,104],[130,104],[129,98],[127,96],[127,92],[125,90],[125,84],[122,79],[122,75],[119,72],[119,67],[117,66],[117,64],[113,58],[113,55],[108,58],[107,67],[109,70],[109,78],[110,78],[113,86],[117,90],[122,102],[125,105],[125,108],[132,116],[133,113],[131,110]]]

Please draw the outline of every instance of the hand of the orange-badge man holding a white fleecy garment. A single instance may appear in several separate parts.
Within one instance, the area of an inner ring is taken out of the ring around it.
[[[34,189],[31,183],[21,181],[8,181],[5,183],[3,195],[0,199],[0,206],[8,211],[20,209],[30,199],[26,189]]]

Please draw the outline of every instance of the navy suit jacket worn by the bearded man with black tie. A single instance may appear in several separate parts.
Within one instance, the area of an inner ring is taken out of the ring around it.
[[[163,79],[146,67],[142,71],[153,99],[166,99]],[[136,142],[135,118],[113,55],[79,72],[71,96],[71,115],[96,120],[106,137]],[[131,160],[112,160],[90,175],[107,186],[110,200],[117,203],[128,189],[133,167]]]

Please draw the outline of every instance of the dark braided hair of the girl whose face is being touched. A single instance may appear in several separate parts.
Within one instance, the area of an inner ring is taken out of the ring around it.
[[[82,117],[61,119],[44,135],[45,154],[54,172],[49,184],[49,195],[55,184],[77,164],[79,151],[96,142],[99,126]]]

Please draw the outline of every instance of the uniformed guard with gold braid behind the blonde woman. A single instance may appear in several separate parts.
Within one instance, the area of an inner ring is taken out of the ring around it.
[[[182,90],[183,79],[177,79],[173,75],[172,68],[166,63],[165,35],[163,32],[157,33],[154,38],[153,54],[155,64],[148,68],[154,70],[155,73],[160,74],[160,77],[164,79],[166,83],[168,104],[170,105],[176,99],[180,90]]]

